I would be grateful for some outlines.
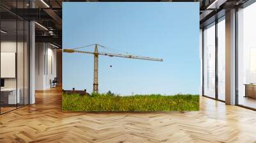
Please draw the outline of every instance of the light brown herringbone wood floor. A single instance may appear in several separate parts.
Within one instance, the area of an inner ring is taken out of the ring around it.
[[[200,98],[199,112],[61,111],[61,89],[0,116],[0,142],[256,142],[256,112]]]

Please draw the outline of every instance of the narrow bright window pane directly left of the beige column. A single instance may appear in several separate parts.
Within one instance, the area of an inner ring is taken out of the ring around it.
[[[218,20],[218,100],[225,101],[225,17]]]

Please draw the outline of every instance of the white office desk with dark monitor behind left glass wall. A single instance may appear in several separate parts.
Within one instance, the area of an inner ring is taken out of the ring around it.
[[[16,98],[16,88],[1,89],[1,102],[9,105],[20,103],[20,89],[18,88],[17,91]]]

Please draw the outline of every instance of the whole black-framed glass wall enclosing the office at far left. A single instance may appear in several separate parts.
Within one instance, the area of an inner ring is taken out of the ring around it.
[[[27,3],[0,2],[12,8],[27,8]],[[3,8],[0,16],[0,114],[3,114],[29,103],[29,22]]]

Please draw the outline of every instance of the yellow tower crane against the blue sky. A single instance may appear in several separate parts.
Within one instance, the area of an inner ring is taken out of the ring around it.
[[[108,52],[99,52],[98,51],[98,46],[99,47],[103,47],[102,45],[99,44],[92,44],[95,45],[94,47],[94,52],[90,52],[90,51],[81,51],[81,50],[76,50],[76,49],[80,49],[83,47],[79,47],[79,48],[75,48],[75,49],[63,49],[63,52],[67,52],[67,53],[83,53],[83,54],[93,54],[94,55],[94,68],[93,68],[93,93],[98,93],[98,68],[99,68],[99,55],[102,56],[109,56],[109,57],[124,57],[124,58],[130,58],[130,59],[143,59],[143,60],[150,60],[150,61],[163,61],[163,59],[159,59],[159,58],[154,58],[154,57],[143,57],[143,56],[133,56],[132,54],[115,54],[115,53],[108,53]],[[87,45],[84,47],[89,47],[92,45]]]

